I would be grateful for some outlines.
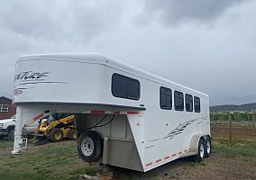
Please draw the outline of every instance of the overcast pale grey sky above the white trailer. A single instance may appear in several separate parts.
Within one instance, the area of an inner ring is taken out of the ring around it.
[[[210,95],[256,102],[255,0],[0,0],[0,96],[20,55],[99,52]]]

